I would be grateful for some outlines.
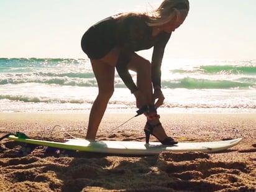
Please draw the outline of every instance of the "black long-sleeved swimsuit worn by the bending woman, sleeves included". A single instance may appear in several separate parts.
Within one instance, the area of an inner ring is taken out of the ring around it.
[[[133,93],[137,86],[132,80],[128,63],[132,53],[153,48],[152,83],[161,86],[161,70],[163,52],[171,34],[161,32],[152,37],[152,27],[146,24],[145,18],[130,15],[123,19],[107,17],[90,27],[81,40],[81,47],[90,59],[103,58],[113,48],[121,50],[116,65],[117,73]]]

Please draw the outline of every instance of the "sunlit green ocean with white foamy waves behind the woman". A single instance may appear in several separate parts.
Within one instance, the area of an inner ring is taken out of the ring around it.
[[[256,60],[166,59],[162,91],[159,113],[254,113]],[[0,112],[88,113],[97,93],[87,59],[0,58]],[[116,73],[106,112],[136,110]]]

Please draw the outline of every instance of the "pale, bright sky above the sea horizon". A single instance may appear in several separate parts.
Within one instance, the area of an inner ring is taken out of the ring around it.
[[[80,40],[96,22],[159,0],[0,0],[0,58],[87,58]],[[255,60],[255,0],[190,0],[165,58]],[[150,59],[152,49],[139,52]]]

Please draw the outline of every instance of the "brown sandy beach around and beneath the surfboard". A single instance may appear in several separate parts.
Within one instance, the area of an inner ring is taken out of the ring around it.
[[[144,140],[145,117],[106,114],[99,140]],[[0,191],[255,191],[256,114],[163,114],[167,133],[179,142],[242,137],[239,145],[220,153],[161,153],[120,157],[75,153],[44,155],[43,147],[19,157],[20,144],[4,139],[0,147]],[[30,137],[85,137],[88,114],[0,114],[0,137],[21,131]],[[153,141],[153,137],[151,139]]]

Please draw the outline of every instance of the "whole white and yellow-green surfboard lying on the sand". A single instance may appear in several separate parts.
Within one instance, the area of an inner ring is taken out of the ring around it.
[[[206,152],[213,153],[226,150],[239,144],[242,138],[221,140],[215,142],[180,142],[176,145],[162,145],[160,142],[116,141],[99,140],[89,141],[85,139],[68,139],[66,142],[53,142],[36,140],[9,135],[11,140],[27,144],[44,145],[58,149],[78,150],[84,152],[108,153],[119,155],[155,155],[161,152]]]

